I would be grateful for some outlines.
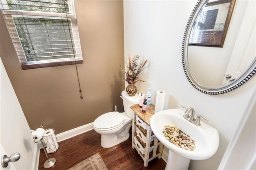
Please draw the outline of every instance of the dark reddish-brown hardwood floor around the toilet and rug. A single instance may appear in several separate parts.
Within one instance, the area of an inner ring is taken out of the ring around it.
[[[131,134],[131,133],[130,133]],[[103,148],[100,145],[100,134],[90,130],[78,136],[59,142],[60,147],[49,158],[55,158],[56,163],[50,170],[67,170],[90,156],[100,153],[108,170],[164,170],[164,160],[155,158],[148,162],[145,168],[138,152],[132,148],[132,135],[121,144],[112,148]],[[44,150],[40,150],[39,170],[44,170],[47,160]]]

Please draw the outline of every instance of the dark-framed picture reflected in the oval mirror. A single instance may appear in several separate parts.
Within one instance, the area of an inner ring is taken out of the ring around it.
[[[194,22],[188,45],[223,47],[234,3],[209,0]]]

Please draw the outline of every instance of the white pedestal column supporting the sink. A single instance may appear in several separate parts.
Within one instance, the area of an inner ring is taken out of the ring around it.
[[[169,150],[165,170],[188,170],[190,159]]]

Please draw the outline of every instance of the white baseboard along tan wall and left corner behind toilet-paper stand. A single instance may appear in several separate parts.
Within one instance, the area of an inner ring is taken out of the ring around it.
[[[56,138],[58,142],[61,142],[63,140],[72,138],[74,136],[77,136],[79,134],[82,134],[92,129],[93,129],[93,123],[88,123],[86,125],[70,129],[66,132],[56,134]],[[41,148],[43,148],[41,142],[35,143],[31,170],[38,170],[39,155],[40,155]]]

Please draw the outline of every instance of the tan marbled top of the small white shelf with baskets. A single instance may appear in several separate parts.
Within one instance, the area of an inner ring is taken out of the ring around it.
[[[155,113],[155,106],[150,105],[147,107],[146,113],[142,113],[142,108],[140,108],[139,105],[134,105],[130,107],[132,111],[134,111],[135,114],[137,114],[142,121],[146,122],[146,124],[150,125],[150,118],[154,115]]]

